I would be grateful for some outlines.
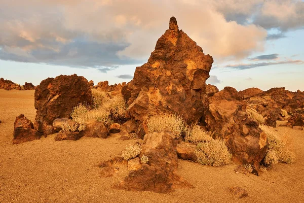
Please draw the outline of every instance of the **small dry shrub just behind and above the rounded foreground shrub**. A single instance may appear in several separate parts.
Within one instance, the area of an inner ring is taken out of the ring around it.
[[[201,129],[199,125],[185,128],[185,141],[191,143],[210,142],[211,132]]]

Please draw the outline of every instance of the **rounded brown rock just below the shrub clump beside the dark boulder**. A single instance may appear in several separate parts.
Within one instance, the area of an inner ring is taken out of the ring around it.
[[[107,138],[109,132],[103,122],[92,120],[87,123],[84,136],[90,138]]]

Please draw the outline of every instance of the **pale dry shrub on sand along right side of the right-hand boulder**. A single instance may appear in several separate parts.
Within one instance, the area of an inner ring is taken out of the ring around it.
[[[272,127],[266,125],[260,125],[259,127],[267,134],[267,141],[269,143],[267,154],[263,161],[264,164],[272,165],[278,162],[294,162],[295,156],[288,148],[288,144],[291,143],[288,134],[284,135],[285,142],[283,142],[283,140],[278,138],[276,131]]]

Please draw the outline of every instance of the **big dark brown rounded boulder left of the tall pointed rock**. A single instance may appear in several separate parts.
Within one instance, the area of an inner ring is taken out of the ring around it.
[[[53,121],[69,118],[73,107],[79,103],[92,104],[90,85],[84,77],[60,75],[43,80],[35,90],[35,129],[45,136],[53,133]]]

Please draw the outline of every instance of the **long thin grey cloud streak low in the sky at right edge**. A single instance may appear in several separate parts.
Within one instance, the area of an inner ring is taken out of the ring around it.
[[[243,63],[243,64],[234,64],[234,65],[225,65],[230,69],[235,70],[246,70],[253,69],[254,67],[267,66],[267,65],[278,65],[278,64],[303,64],[302,60],[286,60],[286,61],[276,61],[276,62],[260,62],[260,63]]]

